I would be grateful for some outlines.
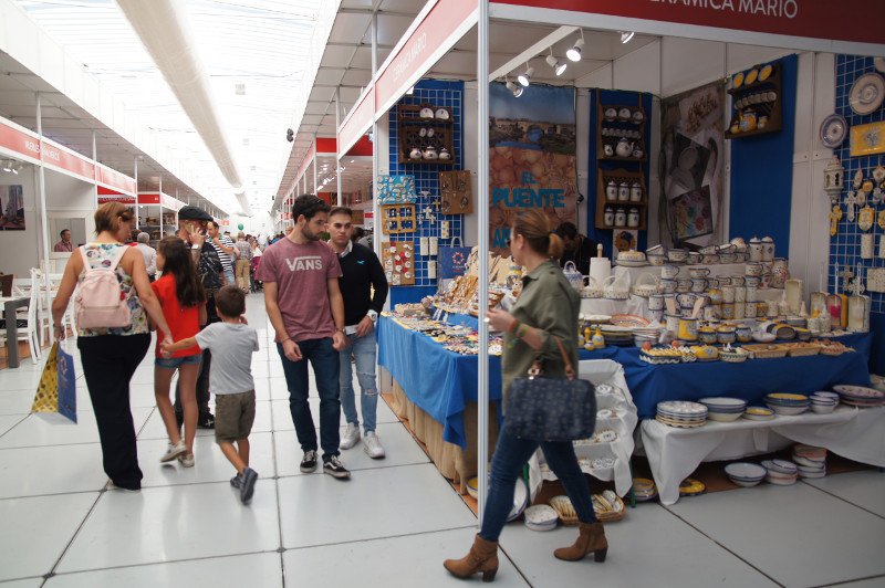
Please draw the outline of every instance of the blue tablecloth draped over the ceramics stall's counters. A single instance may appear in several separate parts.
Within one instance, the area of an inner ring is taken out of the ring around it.
[[[389,317],[378,319],[378,364],[387,368],[409,400],[442,423],[442,439],[466,447],[464,412],[477,400],[475,355],[442,348],[430,337],[406,329]],[[730,396],[761,405],[770,392],[808,393],[835,384],[870,385],[867,363],[872,334],[839,339],[857,353],[837,357],[812,356],[751,359],[745,364],[712,361],[653,366],[639,359],[635,347],[581,350],[581,359],[613,359],[624,366],[627,386],[641,419],[654,418],[662,400],[697,400]],[[501,358],[489,358],[489,399],[501,399]]]

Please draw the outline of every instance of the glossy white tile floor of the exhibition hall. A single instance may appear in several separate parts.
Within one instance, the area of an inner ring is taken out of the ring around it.
[[[383,401],[385,460],[357,445],[343,453],[350,482],[299,472],[260,296],[250,296],[249,317],[262,339],[251,437],[261,479],[247,507],[210,432],[197,439],[194,469],[158,463],[165,433],[154,409],[153,356],[132,385],[145,473],[139,493],[103,491],[82,377],[74,426],[28,414],[40,366],[0,370],[0,588],[462,586],[441,561],[466,553],[476,519]],[[316,420],[319,400],[311,406]],[[643,504],[608,527],[605,564],[554,559],[553,548],[574,533],[509,525],[496,585],[882,587],[885,474],[763,485],[669,508]]]

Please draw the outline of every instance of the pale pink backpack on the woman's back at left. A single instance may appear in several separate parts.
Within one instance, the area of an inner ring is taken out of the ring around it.
[[[117,249],[107,267],[93,267],[84,246],[77,248],[83,256],[84,275],[74,298],[76,325],[81,328],[127,327],[132,324],[128,301],[117,280],[117,265],[128,248]]]

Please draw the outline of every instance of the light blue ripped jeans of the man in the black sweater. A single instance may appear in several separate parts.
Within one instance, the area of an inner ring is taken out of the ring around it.
[[[356,401],[353,391],[353,370],[351,368],[351,355],[356,365],[356,379],[360,381],[360,408],[363,412],[363,430],[372,432],[375,430],[375,411],[378,406],[378,389],[375,386],[375,350],[377,339],[375,329],[364,337],[354,335],[347,336],[347,347],[340,351],[341,372],[339,375],[339,388],[341,390],[341,408],[344,410],[344,418],[347,422],[360,426],[360,418],[356,414]]]

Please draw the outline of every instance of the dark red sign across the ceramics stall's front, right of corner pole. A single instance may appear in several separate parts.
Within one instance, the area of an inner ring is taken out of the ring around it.
[[[715,27],[736,31],[885,43],[882,0],[491,0],[496,4]],[[860,19],[860,21],[858,21]]]

